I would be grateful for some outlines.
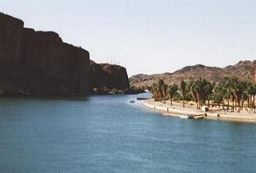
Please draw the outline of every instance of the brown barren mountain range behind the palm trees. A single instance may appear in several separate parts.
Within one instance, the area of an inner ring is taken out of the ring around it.
[[[181,80],[205,78],[211,82],[218,82],[226,76],[237,77],[243,80],[253,81],[253,72],[256,69],[256,60],[239,61],[235,65],[227,67],[208,67],[202,64],[183,67],[173,73],[164,73],[157,75],[134,75],[130,77],[130,85],[143,87],[153,84],[157,79],[164,79],[165,83],[180,83]]]

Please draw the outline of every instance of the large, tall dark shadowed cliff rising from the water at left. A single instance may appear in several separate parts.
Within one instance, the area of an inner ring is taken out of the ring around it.
[[[25,29],[0,13],[0,90],[6,95],[76,96],[89,91],[89,52],[57,33]]]

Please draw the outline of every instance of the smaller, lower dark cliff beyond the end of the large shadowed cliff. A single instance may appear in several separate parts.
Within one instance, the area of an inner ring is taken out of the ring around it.
[[[107,87],[122,90],[129,88],[125,67],[91,61],[90,74],[91,88]]]

